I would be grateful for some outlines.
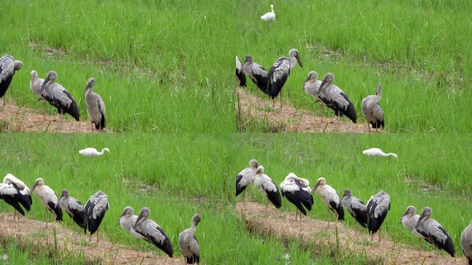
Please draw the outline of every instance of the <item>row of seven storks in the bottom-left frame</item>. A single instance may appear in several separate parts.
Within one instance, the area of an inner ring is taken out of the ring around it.
[[[103,150],[102,150],[103,153]],[[54,215],[54,221],[62,221],[62,210],[65,210],[73,224],[80,226],[84,233],[90,232],[88,242],[92,239],[92,234],[97,232],[97,244],[99,243],[99,226],[108,210],[108,196],[103,191],[98,191],[92,195],[85,206],[77,199],[70,196],[68,190],[61,191],[61,197],[58,199],[52,188],[44,184],[42,178],[36,179],[32,186],[32,193],[35,194],[46,210],[46,228],[48,227],[48,215]],[[32,197],[30,189],[17,177],[12,174],[3,178],[0,184],[0,199],[13,206],[13,220],[16,219],[16,212],[25,215],[23,208],[30,210],[32,206]],[[23,206],[23,208],[21,207]],[[157,246],[169,257],[173,257],[173,246],[170,238],[164,230],[152,219],[149,219],[150,209],[144,207],[139,216],[133,215],[133,209],[130,206],[124,208],[119,217],[118,223],[138,240],[143,239]],[[199,244],[195,233],[197,224],[200,222],[198,214],[193,215],[190,228],[179,233],[179,248],[186,259],[187,264],[199,263]],[[138,252],[139,256],[139,252]]]

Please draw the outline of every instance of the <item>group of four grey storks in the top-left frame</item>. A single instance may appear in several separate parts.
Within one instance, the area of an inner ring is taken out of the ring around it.
[[[4,55],[0,58],[0,98],[3,97],[3,106],[5,106],[5,93],[10,86],[14,73],[21,69],[23,63],[16,61],[11,55]],[[57,112],[61,114],[61,121],[64,113],[68,113],[76,121],[80,119],[79,106],[72,98],[70,93],[56,82],[57,73],[55,71],[48,72],[46,79],[39,78],[35,70],[31,71],[30,89],[31,92],[39,96],[39,100],[44,101],[44,119],[46,120],[46,102],[57,108]],[[104,100],[92,92],[95,85],[95,78],[88,79],[85,88],[85,103],[87,108],[88,119],[92,122],[97,130],[105,128],[105,104]]]

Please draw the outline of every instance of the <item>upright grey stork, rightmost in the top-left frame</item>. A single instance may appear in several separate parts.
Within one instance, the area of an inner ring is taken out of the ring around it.
[[[92,92],[93,86],[95,86],[95,78],[91,77],[88,79],[86,86],[86,107],[88,119],[95,125],[95,129],[104,130],[105,128],[105,103],[101,99],[100,95]]]

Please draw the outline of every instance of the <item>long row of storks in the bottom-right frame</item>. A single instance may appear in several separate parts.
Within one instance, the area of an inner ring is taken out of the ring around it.
[[[295,220],[297,219],[298,210],[300,212],[299,219],[301,219],[302,213],[307,215],[306,211],[311,210],[313,206],[313,192],[308,179],[297,177],[294,173],[289,173],[279,187],[277,187],[277,184],[275,184],[271,177],[264,174],[264,167],[260,166],[255,159],[251,159],[249,167],[244,168],[236,176],[236,196],[244,192],[243,208],[245,206],[245,190],[250,184],[253,184],[264,193],[268,201],[276,208],[282,207],[282,197],[285,197],[288,202],[294,204],[297,208]],[[282,197],[280,196],[279,188]],[[336,190],[326,184],[324,177],[320,177],[317,180],[313,191],[322,199],[327,207],[328,227],[330,226],[331,211],[335,213],[337,220],[342,221],[344,220],[344,208],[346,208],[357,223],[367,228],[368,233],[371,234],[371,241],[373,241],[373,234],[378,231],[380,242],[380,226],[382,226],[390,210],[390,197],[387,193],[380,191],[364,204],[361,199],[353,196],[351,189],[346,188],[342,198],[340,198]],[[266,203],[266,211],[267,204],[268,202]],[[442,249],[454,257],[453,240],[441,224],[435,219],[431,219],[432,212],[431,208],[424,207],[421,215],[417,215],[416,208],[408,206],[400,222],[420,239],[420,255],[421,240],[424,239],[426,242],[433,244],[436,248]],[[472,265],[472,222],[462,232],[460,242],[469,265]]]

